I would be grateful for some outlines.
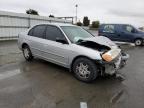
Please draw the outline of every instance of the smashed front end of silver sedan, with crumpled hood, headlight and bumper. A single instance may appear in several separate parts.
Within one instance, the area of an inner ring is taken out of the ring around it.
[[[126,61],[129,58],[129,55],[122,52],[122,50],[111,40],[106,39],[103,41],[105,42],[102,43],[102,41],[96,42],[95,39],[87,39],[79,42],[78,44],[99,51],[102,60],[96,60],[96,63],[99,66],[100,74],[113,75],[126,65]]]

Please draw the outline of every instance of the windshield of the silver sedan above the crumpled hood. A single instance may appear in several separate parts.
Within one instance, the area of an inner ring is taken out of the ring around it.
[[[93,37],[91,33],[89,33],[81,27],[61,26],[61,28],[72,43],[76,43],[79,40],[83,40],[85,38]]]

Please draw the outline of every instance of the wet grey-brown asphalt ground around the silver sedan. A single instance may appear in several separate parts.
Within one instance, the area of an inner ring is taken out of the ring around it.
[[[16,41],[0,42],[0,108],[144,108],[144,48],[122,45],[129,55],[125,80],[99,77],[86,84],[67,69],[27,62]]]

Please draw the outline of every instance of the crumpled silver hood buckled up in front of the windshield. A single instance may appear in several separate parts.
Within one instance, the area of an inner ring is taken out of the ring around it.
[[[93,37],[93,38],[86,38],[84,40],[85,41],[96,42],[100,45],[105,45],[105,46],[108,46],[110,48],[116,48],[117,47],[117,45],[114,42],[112,42],[109,38],[104,37],[104,36],[96,36],[96,37]]]

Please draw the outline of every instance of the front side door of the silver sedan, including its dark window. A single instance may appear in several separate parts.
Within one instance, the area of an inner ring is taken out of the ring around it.
[[[43,53],[43,56],[53,63],[67,67],[69,64],[68,59],[70,53],[69,44],[68,42],[67,43],[57,42],[56,41],[57,38],[63,39],[67,42],[67,39],[65,38],[64,34],[58,27],[48,25],[45,33],[45,42],[44,42],[45,51]]]

